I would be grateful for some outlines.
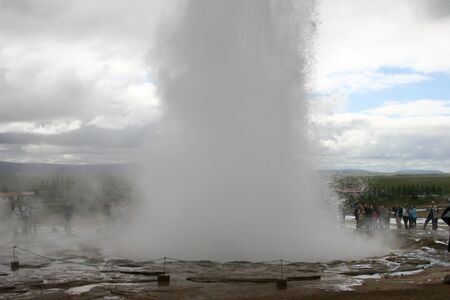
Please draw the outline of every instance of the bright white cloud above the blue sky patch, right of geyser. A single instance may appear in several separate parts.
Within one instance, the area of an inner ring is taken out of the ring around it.
[[[427,1],[321,1],[315,87],[382,89],[450,72],[450,18],[424,16]],[[410,69],[383,74],[382,67]]]

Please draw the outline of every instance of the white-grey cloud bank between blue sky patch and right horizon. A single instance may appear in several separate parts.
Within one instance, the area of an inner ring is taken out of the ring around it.
[[[359,113],[317,112],[314,122],[322,154],[334,160],[333,167],[450,171],[450,100],[389,102]]]

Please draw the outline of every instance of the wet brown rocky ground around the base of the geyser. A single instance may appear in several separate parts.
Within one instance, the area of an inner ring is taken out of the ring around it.
[[[347,230],[353,230],[352,224],[348,219]],[[441,284],[450,273],[447,228],[440,224],[437,231],[388,230],[384,234],[400,241],[397,250],[354,261],[217,263],[168,258],[164,263],[164,259],[112,257],[81,243],[77,234],[46,227],[35,236],[14,240],[19,261],[14,272],[11,240],[3,232],[0,299],[270,299],[349,291],[356,295],[374,283],[385,289],[394,283],[401,284],[401,289],[425,287]],[[42,240],[42,236],[51,238]],[[170,283],[158,282],[161,274],[169,275]],[[277,289],[280,278],[287,280],[286,290]]]

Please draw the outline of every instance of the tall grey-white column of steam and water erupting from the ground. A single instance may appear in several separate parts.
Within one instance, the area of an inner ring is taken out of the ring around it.
[[[151,257],[213,260],[378,250],[337,228],[305,159],[313,1],[177,5],[152,52],[163,116],[132,243]]]

